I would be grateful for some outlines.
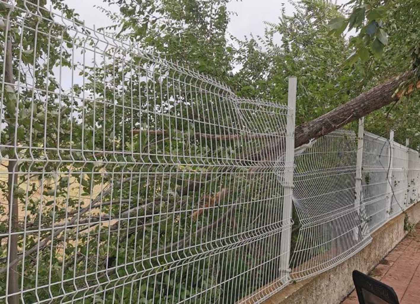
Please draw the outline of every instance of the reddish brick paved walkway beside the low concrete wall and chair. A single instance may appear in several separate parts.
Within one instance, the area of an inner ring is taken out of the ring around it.
[[[420,304],[420,224],[369,275],[394,288],[400,304]],[[342,304],[358,304],[352,292]]]

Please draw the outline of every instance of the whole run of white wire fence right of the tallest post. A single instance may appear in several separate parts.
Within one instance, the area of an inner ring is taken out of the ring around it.
[[[359,252],[373,231],[420,199],[419,152],[395,142],[392,130],[389,138],[365,132],[363,118],[357,139],[334,131],[297,148],[295,166],[294,280]]]

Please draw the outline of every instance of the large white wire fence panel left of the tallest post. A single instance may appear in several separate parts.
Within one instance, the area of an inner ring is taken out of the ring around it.
[[[33,3],[0,10],[0,301],[234,303],[281,288],[293,109]],[[275,160],[249,156],[267,146]]]

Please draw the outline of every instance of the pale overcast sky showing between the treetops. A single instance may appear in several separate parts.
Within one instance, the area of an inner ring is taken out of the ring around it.
[[[349,0],[337,0],[343,4]],[[66,0],[76,12],[84,19],[86,25],[97,27],[110,24],[110,20],[104,16],[94,5],[104,6],[102,0]],[[254,35],[264,34],[265,25],[263,21],[276,22],[281,12],[281,3],[285,2],[286,13],[293,12],[293,7],[287,0],[232,0],[228,9],[234,11],[238,16],[232,16],[228,31],[238,38],[243,38],[250,33]],[[111,7],[115,11],[117,8]]]

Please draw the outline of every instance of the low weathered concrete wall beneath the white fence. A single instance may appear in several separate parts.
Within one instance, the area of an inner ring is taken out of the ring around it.
[[[407,209],[412,223],[420,221],[420,203]],[[372,242],[350,259],[313,278],[289,284],[265,304],[338,304],[354,288],[352,271],[368,273],[404,238],[404,214],[372,234]]]

